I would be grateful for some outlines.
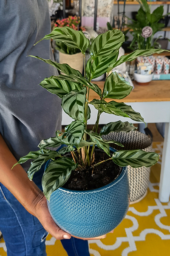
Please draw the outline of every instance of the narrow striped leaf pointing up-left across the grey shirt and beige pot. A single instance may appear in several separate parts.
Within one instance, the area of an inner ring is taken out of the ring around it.
[[[70,67],[68,64],[60,64],[57,63],[55,61],[51,61],[51,60],[46,60],[43,58],[40,58],[38,56],[33,56],[33,55],[29,55],[30,57],[34,57],[37,58],[41,61],[44,61],[47,64],[50,64],[53,67],[56,67],[57,70],[59,70],[60,72],[64,73],[65,75],[69,75],[69,74],[73,74],[75,76],[82,76],[82,74],[79,72],[79,70],[75,70],[74,68]]]

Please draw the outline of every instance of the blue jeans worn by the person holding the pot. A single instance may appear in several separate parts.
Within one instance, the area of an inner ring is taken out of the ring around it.
[[[41,188],[42,172],[39,171],[34,176],[34,182]],[[40,221],[27,212],[1,183],[0,230],[6,242],[8,256],[46,256],[45,238],[48,233]],[[61,242],[68,256],[90,256],[87,241],[71,237]]]

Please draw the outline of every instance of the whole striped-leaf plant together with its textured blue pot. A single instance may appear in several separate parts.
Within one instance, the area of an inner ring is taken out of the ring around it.
[[[65,127],[64,132],[56,131],[56,137],[42,140],[38,145],[40,148],[38,151],[29,152],[25,157],[21,157],[18,163],[32,159],[31,167],[28,169],[28,177],[32,179],[42,164],[50,160],[42,177],[43,192],[49,200],[48,207],[56,223],[74,236],[95,237],[113,230],[125,217],[129,206],[129,186],[125,166],[148,167],[159,159],[159,155],[153,152],[115,151],[109,148],[109,143],[122,147],[123,145],[114,140],[102,139],[102,135],[111,131],[134,130],[132,123],[110,122],[100,133],[97,133],[102,112],[144,122],[140,113],[135,112],[131,106],[113,100],[126,97],[132,87],[111,70],[125,61],[132,61],[139,55],[148,56],[163,50],[136,50],[117,59],[124,37],[117,29],[96,37],[90,46],[91,58],[86,64],[84,76],[68,64],[59,64],[33,56],[51,64],[62,73],[59,76],[45,78],[40,85],[62,98],[63,110],[74,120]],[[75,31],[70,27],[57,27],[42,40],[51,38],[58,42],[62,41],[68,47],[78,48],[85,58],[89,40],[81,31]],[[103,73],[107,73],[107,77],[102,91],[91,80]],[[90,89],[94,90],[100,99],[89,102]],[[87,127],[91,116],[89,105],[93,105],[98,110],[92,130]],[[49,149],[60,145],[64,146],[58,151]],[[84,189],[82,189],[81,183],[84,182],[85,186],[83,185]],[[101,182],[105,185],[101,185]],[[72,185],[73,189],[70,189]]]

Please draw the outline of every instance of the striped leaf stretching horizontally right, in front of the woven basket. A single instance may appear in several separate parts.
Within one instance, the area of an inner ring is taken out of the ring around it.
[[[130,165],[133,168],[141,166],[150,167],[157,163],[159,154],[154,152],[145,152],[141,149],[120,150],[112,155],[112,160],[119,166]]]

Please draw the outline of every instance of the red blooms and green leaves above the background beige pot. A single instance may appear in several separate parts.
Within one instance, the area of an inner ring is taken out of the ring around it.
[[[80,18],[77,16],[68,16],[68,18],[62,19],[62,20],[56,20],[56,23],[54,25],[54,27],[65,27],[68,26],[71,29],[74,30],[81,30],[81,31],[85,31],[85,27],[80,26],[79,27],[79,23],[80,23]],[[62,42],[56,42],[56,49],[59,50],[59,52],[65,53],[65,54],[75,54],[80,52],[80,50],[78,48],[71,48],[68,47],[66,44],[62,43]]]

